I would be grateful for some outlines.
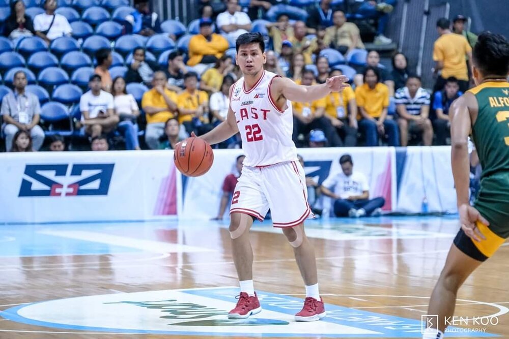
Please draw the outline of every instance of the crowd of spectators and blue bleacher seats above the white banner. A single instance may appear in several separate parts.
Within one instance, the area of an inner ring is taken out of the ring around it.
[[[161,22],[148,0],[7,1],[0,0],[6,150],[173,148],[191,132],[206,133],[227,115],[228,89],[241,76],[235,40],[248,31],[264,36],[268,71],[303,85],[351,79],[341,94],[293,104],[298,147],[445,144],[448,106],[465,82],[458,65],[447,73],[447,58],[465,54],[446,55],[443,43],[433,53],[443,68],[433,95],[408,72],[404,54],[389,70],[366,50],[356,20],[375,23],[372,45],[390,44],[384,30],[395,0],[197,0],[201,17],[187,27]],[[463,22],[457,18],[455,29]],[[475,37],[461,29],[455,35]],[[234,136],[219,147],[240,142]]]

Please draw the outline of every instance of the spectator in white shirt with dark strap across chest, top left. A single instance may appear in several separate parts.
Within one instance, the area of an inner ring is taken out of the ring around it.
[[[34,18],[34,29],[37,36],[44,39],[48,44],[63,36],[70,36],[72,33],[71,25],[62,14],[56,14],[56,0],[44,1],[44,13],[38,14]]]

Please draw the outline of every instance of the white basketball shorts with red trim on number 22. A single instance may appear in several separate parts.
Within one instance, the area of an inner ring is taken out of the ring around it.
[[[306,179],[299,162],[242,168],[230,214],[245,213],[263,221],[269,208],[274,227],[293,227],[314,217],[307,203]]]

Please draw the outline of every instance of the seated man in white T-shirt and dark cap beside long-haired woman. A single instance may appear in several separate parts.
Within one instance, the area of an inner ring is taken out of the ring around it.
[[[93,74],[89,80],[90,90],[81,96],[79,110],[85,133],[92,138],[117,128],[119,116],[115,114],[113,96],[101,89],[101,76]]]

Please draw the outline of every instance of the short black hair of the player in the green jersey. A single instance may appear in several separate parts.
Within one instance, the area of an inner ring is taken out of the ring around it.
[[[472,53],[474,65],[483,75],[502,78],[509,73],[509,42],[503,35],[483,32]]]

